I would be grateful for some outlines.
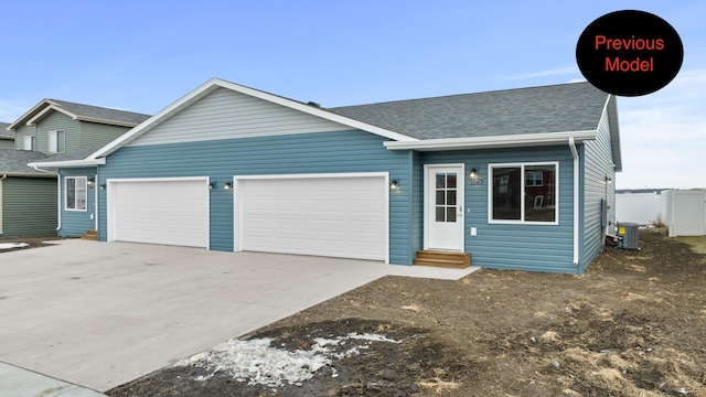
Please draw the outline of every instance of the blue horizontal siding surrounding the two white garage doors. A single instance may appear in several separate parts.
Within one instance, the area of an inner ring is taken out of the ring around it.
[[[409,265],[411,154],[385,149],[385,140],[351,130],[126,147],[100,165],[98,183],[115,178],[210,176],[222,184],[233,175],[389,172],[400,185],[391,192],[389,261]],[[105,240],[106,192],[99,194],[99,238]],[[233,250],[233,191],[211,191],[211,249]]]

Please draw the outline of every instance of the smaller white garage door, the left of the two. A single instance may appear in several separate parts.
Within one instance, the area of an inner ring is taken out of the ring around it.
[[[108,240],[208,247],[208,182],[110,181]]]

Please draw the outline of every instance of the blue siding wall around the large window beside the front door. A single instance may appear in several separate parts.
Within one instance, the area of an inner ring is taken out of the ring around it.
[[[488,222],[489,164],[556,161],[559,163],[558,225]],[[464,176],[464,247],[471,254],[472,265],[495,269],[578,272],[573,264],[574,167],[568,147],[426,152],[422,163],[463,163],[467,173],[473,168],[479,170],[478,178],[483,181],[482,185],[471,185],[468,174]],[[415,206],[415,211],[424,213],[424,207]],[[470,235],[471,227],[478,229],[474,237]]]

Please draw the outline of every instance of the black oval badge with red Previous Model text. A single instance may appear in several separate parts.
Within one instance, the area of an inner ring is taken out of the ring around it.
[[[576,62],[584,77],[614,95],[640,96],[670,84],[682,67],[684,46],[674,28],[644,11],[608,13],[584,30]]]

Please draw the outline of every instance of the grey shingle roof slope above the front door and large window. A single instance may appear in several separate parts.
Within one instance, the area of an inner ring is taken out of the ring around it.
[[[327,110],[417,139],[473,138],[595,130],[607,99],[571,83]]]

